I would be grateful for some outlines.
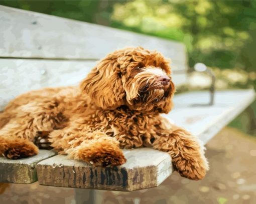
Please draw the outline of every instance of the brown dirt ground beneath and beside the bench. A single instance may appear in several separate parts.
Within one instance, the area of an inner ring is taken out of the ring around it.
[[[175,172],[155,188],[134,192],[99,190],[97,203],[256,203],[255,137],[226,127],[206,147],[210,170],[202,181],[191,181]],[[10,184],[0,194],[0,203],[75,203],[74,189],[37,182]]]

